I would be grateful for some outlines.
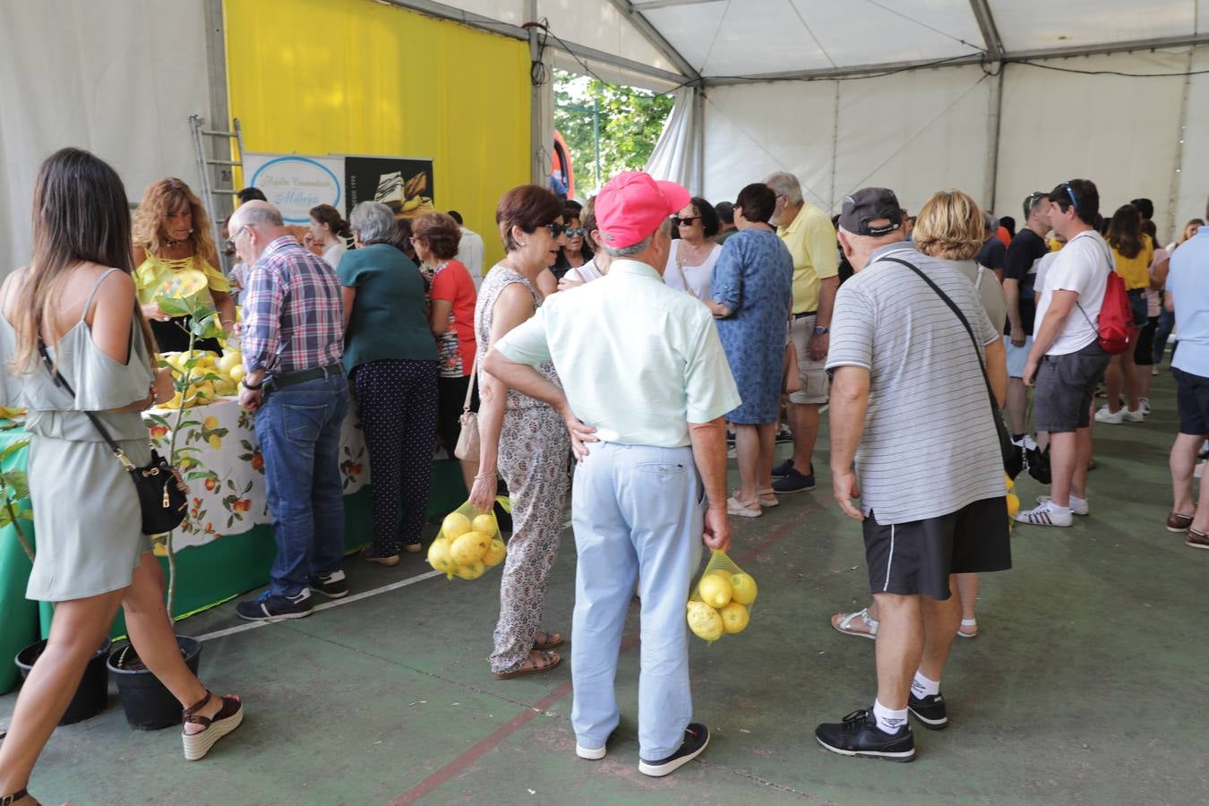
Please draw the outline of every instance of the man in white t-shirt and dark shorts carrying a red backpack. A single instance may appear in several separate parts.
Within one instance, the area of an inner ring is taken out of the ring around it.
[[[1068,240],[1046,271],[1024,383],[1036,387],[1032,411],[1037,430],[1049,431],[1052,479],[1049,495],[1017,512],[1016,520],[1032,526],[1071,526],[1072,515],[1091,511],[1091,406],[1109,366],[1095,323],[1112,272],[1112,251],[1091,224],[1100,208],[1094,182],[1063,182],[1049,193],[1049,226]]]

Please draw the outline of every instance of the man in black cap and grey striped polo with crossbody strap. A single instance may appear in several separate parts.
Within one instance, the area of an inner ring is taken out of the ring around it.
[[[891,191],[866,187],[845,198],[839,227],[856,274],[840,288],[832,320],[831,470],[840,508],[863,523],[880,611],[878,697],[820,725],[815,738],[841,755],[909,761],[908,713],[930,730],[948,725],[941,673],[961,621],[953,574],[1012,564],[982,369],[985,360],[1002,402],[1005,349],[973,284],[903,240]],[[961,318],[898,261],[935,283]]]

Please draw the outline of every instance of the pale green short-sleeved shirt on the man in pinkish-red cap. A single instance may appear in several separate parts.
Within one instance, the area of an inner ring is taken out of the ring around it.
[[[604,442],[683,447],[689,423],[741,402],[708,308],[632,260],[546,297],[496,349],[517,364],[554,361],[571,410]]]

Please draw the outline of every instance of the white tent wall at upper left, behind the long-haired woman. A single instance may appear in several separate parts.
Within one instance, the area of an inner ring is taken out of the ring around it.
[[[154,180],[197,187],[189,116],[210,109],[203,0],[0,2],[0,274],[24,265],[37,167],[93,151],[132,203]]]

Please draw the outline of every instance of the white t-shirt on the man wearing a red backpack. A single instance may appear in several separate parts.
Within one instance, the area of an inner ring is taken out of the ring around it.
[[[1041,286],[1041,302],[1037,303],[1034,338],[1041,331],[1041,323],[1053,302],[1054,291],[1078,294],[1077,307],[1066,317],[1062,335],[1046,350],[1046,355],[1076,353],[1099,337],[1095,323],[1100,317],[1111,272],[1112,253],[1104,238],[1093,230],[1078,233],[1055,253],[1045,274],[1041,268],[1037,269],[1037,283],[1043,280],[1045,285]]]

